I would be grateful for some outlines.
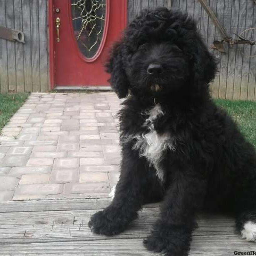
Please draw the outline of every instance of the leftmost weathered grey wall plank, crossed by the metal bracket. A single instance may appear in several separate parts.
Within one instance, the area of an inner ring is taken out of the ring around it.
[[[0,26],[6,26],[5,1],[0,1]],[[0,39],[0,92],[8,92],[7,41]]]

